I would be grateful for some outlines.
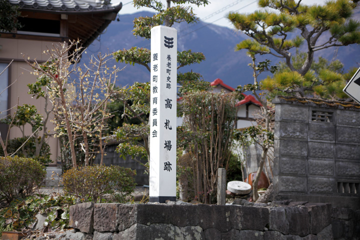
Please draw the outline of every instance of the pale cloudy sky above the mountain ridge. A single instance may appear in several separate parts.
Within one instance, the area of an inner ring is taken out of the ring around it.
[[[122,2],[120,14],[134,13],[141,10],[149,10],[143,7],[137,9],[133,6],[132,0],[111,0],[112,3]],[[229,21],[224,17],[229,11],[248,13],[257,8],[257,0],[209,0],[206,6],[193,5],[194,12],[202,21],[232,28]],[[304,4],[323,4],[325,0],[302,0]]]

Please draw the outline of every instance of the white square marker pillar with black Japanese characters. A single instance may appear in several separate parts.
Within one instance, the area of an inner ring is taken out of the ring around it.
[[[149,201],[176,199],[177,31],[151,28]]]

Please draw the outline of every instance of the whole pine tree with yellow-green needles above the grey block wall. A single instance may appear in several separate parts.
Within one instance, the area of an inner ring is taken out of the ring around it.
[[[284,59],[287,69],[263,80],[262,88],[297,96],[314,92],[320,97],[343,98],[335,88],[343,87],[348,79],[329,69],[316,73],[311,65],[316,51],[360,43],[360,23],[350,18],[357,1],[332,0],[307,6],[301,0],[258,0],[258,5],[266,9],[250,14],[230,12],[227,17],[250,37],[238,43],[236,50]],[[292,57],[294,49],[304,49],[299,52],[301,61]]]

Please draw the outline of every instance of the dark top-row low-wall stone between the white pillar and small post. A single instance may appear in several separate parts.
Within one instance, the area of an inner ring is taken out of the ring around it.
[[[196,205],[173,205],[170,223],[175,226],[195,226],[197,225],[197,206]]]

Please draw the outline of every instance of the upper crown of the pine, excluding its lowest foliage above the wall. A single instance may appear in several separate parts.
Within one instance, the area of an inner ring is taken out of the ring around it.
[[[330,0],[324,5],[304,5],[301,0],[258,0],[262,8],[252,13],[230,12],[227,18],[235,29],[250,39],[236,45],[252,54],[271,54],[284,58],[291,71],[304,76],[314,60],[314,52],[333,46],[360,43],[360,23],[351,19],[356,1]],[[290,37],[297,30],[299,34]],[[329,34],[325,40],[320,35]],[[305,48],[305,61],[295,65],[293,50]]]

